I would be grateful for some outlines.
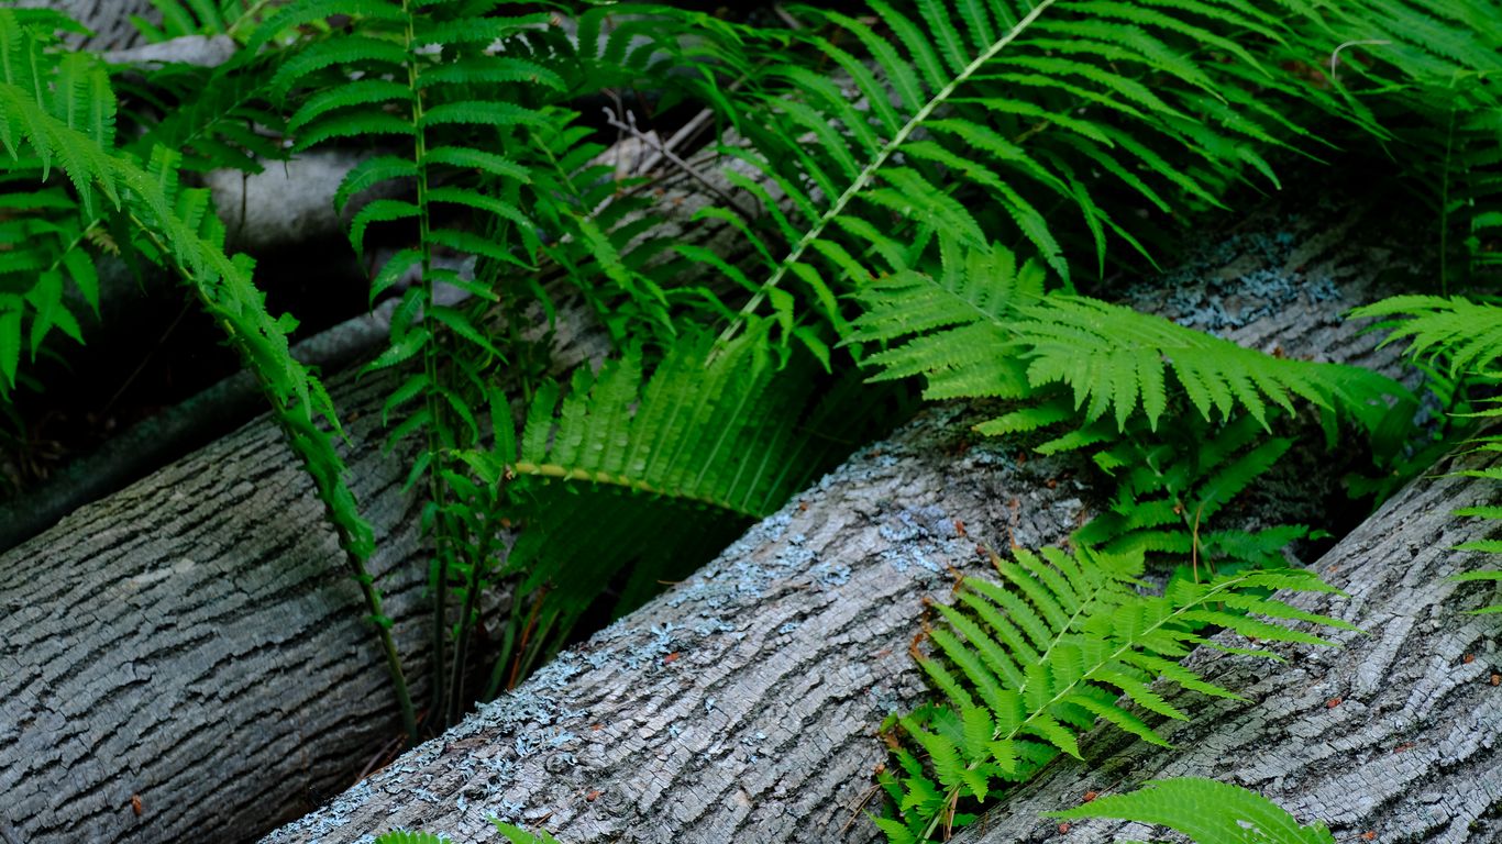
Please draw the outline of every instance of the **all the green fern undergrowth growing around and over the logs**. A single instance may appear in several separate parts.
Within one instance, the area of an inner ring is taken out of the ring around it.
[[[41,389],[35,362],[84,339],[101,261],[182,278],[326,505],[409,740],[786,506],[898,424],[921,381],[928,399],[996,402],[979,436],[1077,455],[1101,502],[1068,550],[996,556],[999,580],[967,577],[934,604],[915,656],[936,697],[883,730],[897,764],[876,823],[892,841],[943,839],[1083,755],[1098,722],[1163,742],[1155,724],[1187,718],[1164,685],[1235,697],[1181,665],[1193,647],[1272,656],[1257,643],[1349,628],[1274,596],[1331,592],[1286,557],[1325,526],[1238,512],[1284,454],[1319,448],[1287,420],[1370,443],[1379,493],[1452,439],[1502,448],[1467,428],[1499,413],[1502,327],[1484,293],[1502,254],[1494,3],[780,6],[798,26],[650,3],[158,6],[149,39],[224,35],[239,51],[219,68],[110,68],[63,45],[80,30],[68,18],[0,9],[0,396]],[[662,225],[653,177],[617,173],[607,143],[637,117],[668,135],[694,113],[712,126],[704,155],[659,167],[713,185],[712,201]],[[1110,302],[1116,278],[1175,257],[1232,197],[1347,147],[1391,158],[1430,209],[1434,290],[1356,315],[1410,344],[1433,395]],[[318,149],[362,153],[333,204],[369,302],[394,302],[365,371],[395,371],[388,448],[416,455],[425,701],[397,659],[394,635],[412,634],[363,568],[374,533],[333,402],[288,353],[296,320],[266,311],[254,261],[225,254],[192,186]],[[1449,297],[1461,285],[1478,293]],[[608,353],[557,377],[565,299]],[[1413,446],[1421,401],[1454,416]],[[1184,818],[1164,806],[1182,797],[1217,808],[1206,841],[1233,815],[1313,839],[1218,788],[1170,781],[1093,808],[1172,826]]]

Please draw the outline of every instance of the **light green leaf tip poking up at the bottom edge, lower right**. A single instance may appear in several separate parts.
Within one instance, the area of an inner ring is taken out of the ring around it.
[[[1136,791],[1096,797],[1047,817],[1155,823],[1188,835],[1194,844],[1335,844],[1323,823],[1299,826],[1286,809],[1256,791],[1197,776],[1157,779]]]

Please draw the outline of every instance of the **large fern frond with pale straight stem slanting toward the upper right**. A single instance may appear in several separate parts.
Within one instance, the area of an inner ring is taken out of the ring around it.
[[[716,96],[746,105],[725,117],[753,146],[727,152],[795,209],[792,219],[772,213],[766,231],[746,230],[769,275],[742,317],[769,299],[793,321],[793,299],[774,293],[792,278],[843,329],[837,293],[865,285],[870,255],[897,263],[915,230],[969,246],[1015,237],[1068,285],[1083,254],[1104,266],[1111,237],[1149,254],[1140,234],[1152,227],[1134,233],[1113,209],[1146,203],[1166,228],[1163,218],[1218,207],[1248,173],[1277,183],[1271,150],[1308,143],[1286,114],[1346,111],[1278,69],[1289,54],[1323,53],[1323,21],[1305,5],[934,0],[916,15],[870,6],[870,18],[796,8],[811,35],[751,33],[725,50],[725,63],[746,71],[739,92]],[[798,50],[846,78],[789,60]],[[1065,225],[1060,207],[1081,225]]]

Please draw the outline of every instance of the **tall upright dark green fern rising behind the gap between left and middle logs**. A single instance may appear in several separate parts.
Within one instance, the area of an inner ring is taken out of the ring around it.
[[[664,267],[650,263],[661,246],[638,237],[652,218],[641,216],[641,201],[614,201],[607,170],[590,161],[599,146],[563,105],[601,84],[652,74],[662,62],[656,56],[673,54],[682,24],[668,12],[643,12],[641,26],[616,27],[604,44],[607,9],[584,12],[575,47],[530,3],[300,0],[248,44],[254,51],[296,27],[348,15],[348,27],[300,45],[276,71],[273,86],[300,99],[287,123],[293,149],[376,137],[409,146],[356,167],[335,203],[342,213],[368,188],[413,188],[354,210],[350,243],[363,258],[374,227],[416,227],[416,240],[371,281],[374,300],[407,273],[419,278],[400,294],[391,347],[368,369],[419,363],[386,411],[406,413],[394,442],[410,434],[424,440],[410,482],[425,485],[424,527],[434,538],[431,710],[449,722],[467,703],[476,601],[491,583],[499,514],[511,496],[476,487],[455,455],[478,446],[485,414],[509,404],[496,383],[508,356],[530,356],[517,329],[527,306],[538,299],[553,306],[532,273],[544,264],[563,267],[617,339],[626,323],[641,321],[671,335],[670,312],[698,299],[667,287]],[[437,254],[473,258],[473,275],[437,266]],[[440,285],[467,293],[469,303],[440,303]],[[491,306],[509,333],[493,330]],[[520,375],[524,393],[535,389],[530,372]],[[416,408],[409,411],[409,402]],[[451,593],[463,602],[452,634]]]

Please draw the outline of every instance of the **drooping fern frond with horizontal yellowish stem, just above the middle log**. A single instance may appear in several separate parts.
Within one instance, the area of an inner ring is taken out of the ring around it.
[[[700,332],[650,377],[628,350],[598,374],[577,371],[566,395],[544,383],[520,440],[497,431],[494,451],[461,455],[481,484],[512,488],[509,517],[524,527],[502,574],[523,575],[518,596],[538,605],[526,614],[542,619],[524,652],[514,632],[491,695],[499,671],[517,676],[554,650],[623,563],[613,614],[775,512],[889,416],[883,393],[849,377],[829,384],[808,356],[781,363],[754,332],[710,348]]]

